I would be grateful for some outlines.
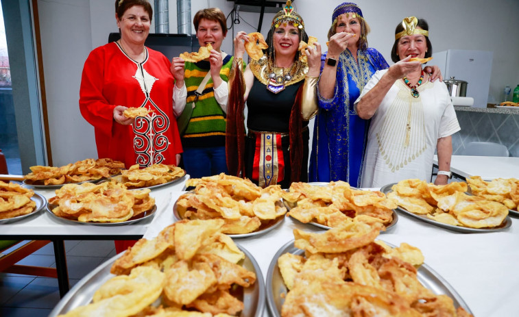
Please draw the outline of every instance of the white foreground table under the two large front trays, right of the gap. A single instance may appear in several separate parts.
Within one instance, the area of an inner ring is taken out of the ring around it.
[[[174,201],[182,192],[172,193]],[[516,316],[519,311],[517,290],[519,275],[519,218],[505,231],[494,233],[458,233],[424,223],[407,214],[398,214],[398,223],[379,239],[400,245],[418,246],[431,266],[460,294],[474,316]],[[171,212],[162,212],[149,225],[144,238],[154,238],[173,223]],[[278,249],[293,240],[293,229],[322,231],[313,225],[285,218],[284,223],[261,236],[235,239],[258,262],[263,278]],[[265,306],[263,316],[269,316]]]

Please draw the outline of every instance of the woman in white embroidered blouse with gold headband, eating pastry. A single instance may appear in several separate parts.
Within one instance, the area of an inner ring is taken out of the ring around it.
[[[391,59],[377,71],[355,102],[359,116],[372,119],[367,136],[362,187],[402,179],[431,180],[437,149],[439,170],[450,170],[452,134],[460,130],[444,83],[427,80],[422,62],[433,53],[429,25],[411,16],[396,27]],[[436,184],[448,177],[438,175]]]

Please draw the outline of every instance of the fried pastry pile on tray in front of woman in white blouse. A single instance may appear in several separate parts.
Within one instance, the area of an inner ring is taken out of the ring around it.
[[[405,179],[395,184],[387,197],[414,214],[453,226],[498,227],[508,216],[502,203],[466,194],[467,183],[434,185],[420,179]]]

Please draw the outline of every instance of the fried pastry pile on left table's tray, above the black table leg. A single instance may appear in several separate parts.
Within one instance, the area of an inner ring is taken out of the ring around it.
[[[56,216],[82,223],[121,223],[155,205],[149,189],[127,190],[114,181],[66,184],[49,199]]]

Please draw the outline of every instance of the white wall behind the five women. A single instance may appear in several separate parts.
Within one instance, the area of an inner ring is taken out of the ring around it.
[[[339,3],[295,0],[294,6],[304,18],[307,33],[324,43],[333,9]],[[383,53],[389,64],[397,23],[405,16],[418,16],[429,22],[434,51],[494,51],[490,99],[499,100],[504,86],[514,89],[519,84],[519,1],[495,0],[491,4],[483,0],[359,0],[357,3],[372,28],[368,36],[370,47]],[[191,18],[197,10],[209,7],[221,8],[227,16],[232,5],[227,0],[191,0]],[[114,1],[38,0],[38,9],[54,164],[95,157],[93,128],[82,118],[77,100],[88,53],[104,45],[108,33],[117,31]],[[241,24],[234,25],[234,33],[256,31],[259,14],[241,12],[240,15]],[[261,32],[265,35],[273,16],[265,14],[263,18]],[[176,33],[174,0],[169,0],[169,23],[169,32]],[[193,26],[192,29],[194,33]],[[228,53],[232,53],[232,38],[230,29],[222,47]]]

